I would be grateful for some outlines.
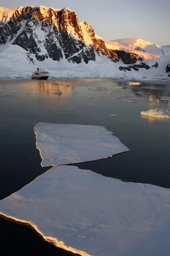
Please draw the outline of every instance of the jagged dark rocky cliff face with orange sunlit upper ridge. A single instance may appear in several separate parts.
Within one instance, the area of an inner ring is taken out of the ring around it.
[[[86,21],[80,23],[76,13],[67,7],[19,7],[8,21],[0,24],[0,45],[3,44],[22,47],[28,51],[29,61],[29,54],[33,53],[38,61],[65,58],[68,62],[79,64],[84,61],[87,64],[102,54],[113,62],[121,59],[130,68],[134,68],[137,61],[142,63],[138,65],[138,70],[146,68],[139,55],[108,49],[105,42],[95,36],[92,26]],[[125,69],[122,67],[122,70]]]

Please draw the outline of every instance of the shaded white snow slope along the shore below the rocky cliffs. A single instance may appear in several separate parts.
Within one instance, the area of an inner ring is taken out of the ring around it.
[[[29,56],[29,57],[28,57]],[[53,61],[51,58],[42,62],[37,61],[34,54],[30,54],[17,45],[6,44],[0,46],[0,78],[31,78],[32,72],[37,67],[44,68],[50,72],[51,78],[123,78],[123,79],[167,79],[166,62],[161,56],[157,61],[159,67],[152,67],[149,70],[140,69],[131,72],[120,71],[122,62],[113,63],[107,56],[96,54],[96,61],[89,61],[88,64],[69,63],[65,58],[61,61]],[[34,62],[34,63],[33,63]],[[16,65],[17,63],[17,65]],[[154,64],[155,61],[151,61]],[[124,66],[127,66],[124,64]]]

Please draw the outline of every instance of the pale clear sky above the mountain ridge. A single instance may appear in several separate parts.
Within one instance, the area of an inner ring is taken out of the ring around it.
[[[67,6],[105,40],[141,38],[159,46],[170,45],[170,0],[0,0],[0,6],[6,8],[29,5]]]

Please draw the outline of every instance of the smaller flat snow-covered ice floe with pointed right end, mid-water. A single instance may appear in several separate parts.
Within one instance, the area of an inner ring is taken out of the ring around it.
[[[81,163],[129,151],[103,126],[39,122],[34,131],[42,166]]]

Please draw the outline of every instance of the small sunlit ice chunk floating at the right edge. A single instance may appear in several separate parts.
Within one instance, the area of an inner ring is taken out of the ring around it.
[[[153,116],[158,118],[170,118],[170,111],[163,108],[150,109],[148,111],[141,111],[143,116]]]

